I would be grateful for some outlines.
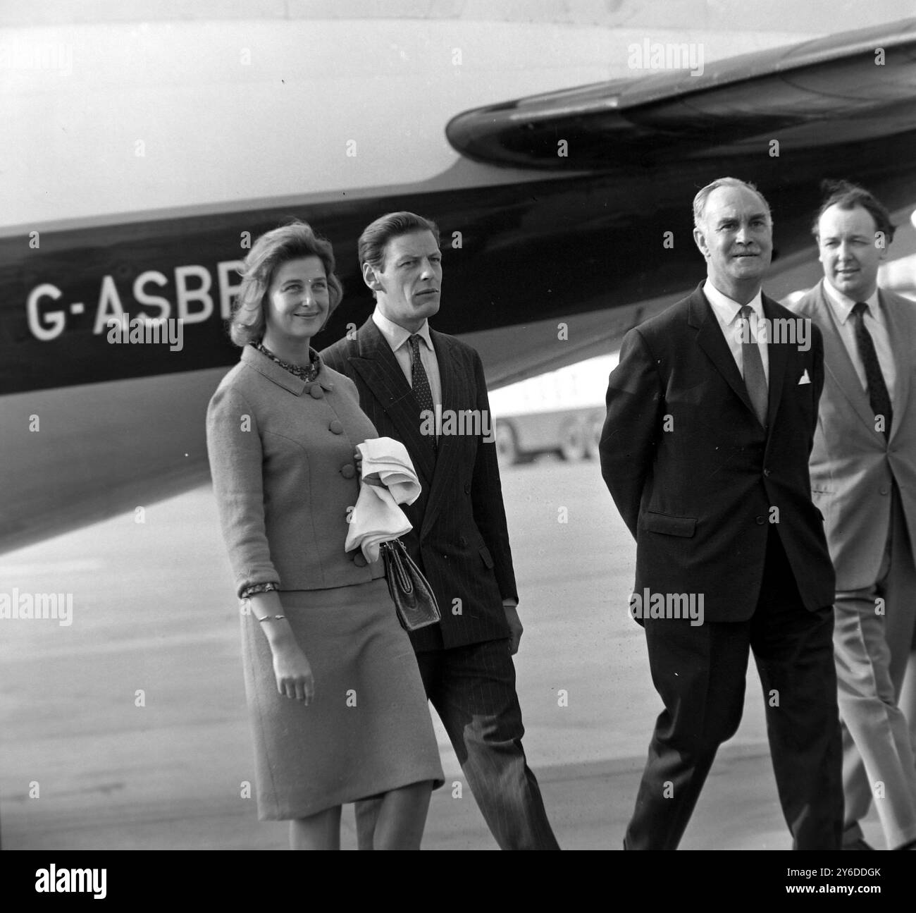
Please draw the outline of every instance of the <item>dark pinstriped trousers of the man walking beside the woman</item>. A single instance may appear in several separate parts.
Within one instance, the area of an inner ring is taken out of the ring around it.
[[[521,744],[525,729],[507,640],[424,651],[417,662],[427,697],[500,849],[559,850]],[[356,807],[361,848],[371,845],[374,828],[366,804]]]

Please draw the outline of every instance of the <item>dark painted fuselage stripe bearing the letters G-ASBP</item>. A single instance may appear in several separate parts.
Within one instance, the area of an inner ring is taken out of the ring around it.
[[[715,177],[757,182],[773,208],[777,247],[791,253],[812,245],[808,225],[823,176],[863,181],[894,208],[916,199],[913,160],[911,131],[896,137],[892,157],[868,143],[831,148],[829,159],[818,148],[786,159],[749,150],[729,159],[585,177],[342,198],[307,210],[274,207],[42,231],[38,247],[30,247],[34,239],[27,235],[5,237],[0,393],[233,364],[237,350],[221,317],[237,282],[231,264],[245,256],[243,233],[253,240],[289,217],[306,219],[332,241],[344,281],[344,302],[316,346],[329,345],[371,312],[356,239],[370,221],[395,209],[440,225],[442,310],[433,324],[457,335],[560,322],[689,289],[704,272],[692,241],[692,196]],[[167,305],[150,304],[151,298]],[[183,314],[180,351],[169,343],[110,342],[106,319],[117,307],[131,317]]]

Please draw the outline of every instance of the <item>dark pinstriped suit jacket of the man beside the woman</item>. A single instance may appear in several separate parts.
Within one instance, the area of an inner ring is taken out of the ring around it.
[[[442,379],[442,409],[489,414],[484,368],[470,346],[431,330]],[[402,505],[413,530],[403,536],[439,601],[445,647],[508,636],[503,600],[518,600],[496,445],[480,435],[442,435],[438,457],[420,434],[420,406],[391,347],[371,317],[354,339],[324,351],[325,364],[354,380],[359,402],[380,436],[407,447],[422,491]],[[460,600],[460,602],[456,602]],[[460,613],[459,613],[460,610]],[[421,629],[417,650],[440,646],[438,633]]]

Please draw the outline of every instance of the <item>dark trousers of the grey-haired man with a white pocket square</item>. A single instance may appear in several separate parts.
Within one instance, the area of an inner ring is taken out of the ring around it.
[[[744,709],[747,655],[757,662],[780,803],[797,850],[840,848],[842,742],[836,705],[834,613],[802,605],[779,534],[770,527],[763,586],[747,622],[645,622],[655,724],[624,846],[674,850],[722,742]]]

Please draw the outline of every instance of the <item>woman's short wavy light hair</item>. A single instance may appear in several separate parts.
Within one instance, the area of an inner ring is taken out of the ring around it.
[[[229,316],[229,336],[236,346],[245,346],[264,336],[264,304],[274,272],[289,260],[317,257],[328,277],[328,316],[341,303],[344,286],[334,274],[334,252],[331,242],[318,236],[311,225],[296,220],[280,225],[258,237],[239,274],[242,284]]]

